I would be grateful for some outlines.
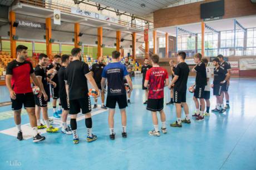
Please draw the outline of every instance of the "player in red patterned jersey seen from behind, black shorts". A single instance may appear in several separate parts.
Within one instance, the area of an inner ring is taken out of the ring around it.
[[[146,72],[144,87],[149,88],[149,99],[147,100],[147,110],[151,111],[154,130],[149,131],[150,136],[160,136],[158,119],[156,113],[160,113],[163,133],[167,133],[164,113],[164,87],[169,85],[169,77],[166,69],[159,66],[159,56],[151,56],[153,67]],[[149,85],[150,84],[150,85]]]

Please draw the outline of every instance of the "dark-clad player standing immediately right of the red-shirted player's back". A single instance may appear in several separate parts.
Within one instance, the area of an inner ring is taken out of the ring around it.
[[[174,103],[176,107],[177,121],[170,124],[171,127],[182,127],[181,122],[191,123],[189,119],[189,107],[186,104],[186,84],[189,77],[189,66],[185,63],[186,53],[179,52],[178,65],[174,68],[174,78],[169,84],[169,88],[174,84]],[[186,118],[181,121],[181,105],[184,108]]]

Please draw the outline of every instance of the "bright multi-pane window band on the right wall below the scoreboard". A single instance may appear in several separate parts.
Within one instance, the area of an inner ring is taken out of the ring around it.
[[[219,34],[205,32],[204,44],[206,57],[217,56],[218,54],[224,56],[255,56],[256,28],[249,28],[247,31],[238,28],[235,33],[234,30],[221,31]],[[191,36],[191,34],[179,35],[178,51],[201,53],[201,34],[196,34],[196,37]]]

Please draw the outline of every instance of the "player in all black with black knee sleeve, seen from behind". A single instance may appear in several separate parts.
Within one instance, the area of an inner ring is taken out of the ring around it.
[[[97,139],[97,136],[92,134],[91,100],[88,96],[87,80],[97,91],[96,97],[99,97],[100,91],[92,77],[88,64],[81,61],[81,49],[73,48],[71,54],[73,59],[66,68],[65,81],[66,92],[70,102],[70,126],[73,133],[73,143],[77,144],[79,142],[76,117],[81,110],[82,114],[85,114],[87,142],[92,142]]]

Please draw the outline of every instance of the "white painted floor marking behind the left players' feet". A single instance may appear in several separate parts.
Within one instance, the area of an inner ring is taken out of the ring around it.
[[[100,108],[100,107],[98,107]],[[92,116],[95,116],[96,114],[100,114],[102,112],[105,112],[107,111],[107,109],[99,109],[97,111],[92,111],[91,114]],[[53,117],[51,117],[53,118]],[[85,119],[85,115],[84,114],[77,114],[77,118],[76,118],[76,121],[81,121],[82,119]],[[52,125],[54,127],[57,127],[59,128],[59,133],[61,132],[61,127],[62,127],[62,119],[55,119],[53,118],[53,123]],[[68,118],[67,118],[67,122],[70,122],[70,115],[68,115]],[[70,124],[70,123],[68,123]],[[22,124],[21,126],[21,129],[22,129],[22,134],[23,134],[23,139],[30,139],[33,137],[33,132],[32,132],[32,128],[30,126],[30,123],[26,123],[26,124]],[[16,127],[12,127],[12,128],[9,128],[9,129],[4,129],[3,131],[0,131],[0,133],[3,133],[3,134],[7,134],[9,136],[13,136],[13,137],[17,137],[17,128]],[[46,133],[46,128],[45,129],[38,129],[38,132],[40,132],[40,134],[43,134],[43,133]]]

